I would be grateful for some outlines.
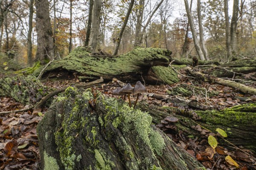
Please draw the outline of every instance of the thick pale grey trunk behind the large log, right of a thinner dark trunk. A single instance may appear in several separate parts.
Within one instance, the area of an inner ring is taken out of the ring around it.
[[[99,24],[100,24],[100,11],[102,6],[102,0],[95,0],[93,4],[92,13],[92,28],[89,45],[92,47],[92,53],[95,53],[97,47],[97,40],[99,36]]]

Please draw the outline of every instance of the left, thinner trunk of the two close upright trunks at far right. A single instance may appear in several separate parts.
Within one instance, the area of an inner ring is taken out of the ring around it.
[[[226,25],[226,48],[227,48],[227,57],[231,56],[231,46],[230,46],[230,23],[228,16],[228,0],[224,0],[224,13],[225,13],[225,25]]]

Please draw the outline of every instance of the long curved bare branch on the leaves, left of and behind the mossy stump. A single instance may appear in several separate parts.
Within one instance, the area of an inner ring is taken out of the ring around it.
[[[93,86],[95,84],[101,83],[103,81],[104,81],[104,79],[102,79],[102,77],[101,77],[100,79],[97,79],[95,81],[87,82],[87,83],[84,83],[84,84],[75,85],[74,87],[76,87],[76,88],[89,88],[89,87],[91,87],[91,86]],[[35,109],[42,108],[42,106],[47,102],[48,99],[50,99],[51,97],[53,97],[53,96],[55,96],[55,95],[65,91],[66,88],[61,88],[61,89],[57,89],[55,91],[52,91],[51,93],[49,93],[46,96],[44,96],[41,99],[40,102],[36,103],[35,105],[31,106],[30,108],[20,109],[20,110],[15,110],[15,111],[2,111],[2,112],[0,112],[0,114],[17,113],[17,112],[22,112],[22,111],[29,111],[32,108],[35,108]]]

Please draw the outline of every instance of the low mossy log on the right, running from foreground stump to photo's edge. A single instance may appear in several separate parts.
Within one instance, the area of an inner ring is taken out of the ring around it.
[[[221,111],[188,111],[178,108],[149,106],[145,102],[140,102],[137,107],[143,111],[148,111],[155,124],[160,123],[166,116],[177,117],[179,119],[179,122],[176,124],[177,130],[175,131],[177,134],[182,130],[189,137],[205,137],[204,135],[202,136],[198,130],[192,128],[192,126],[197,125],[195,124],[195,122],[197,122],[212,131],[215,131],[216,128],[225,130],[228,135],[227,140],[236,146],[256,150],[256,135],[254,134],[256,131],[255,103],[238,105]],[[193,117],[196,117],[196,119]],[[201,119],[198,119],[199,117]],[[174,131],[172,131],[172,133],[174,133]],[[219,138],[219,141],[221,145],[230,145],[221,140],[221,138]]]

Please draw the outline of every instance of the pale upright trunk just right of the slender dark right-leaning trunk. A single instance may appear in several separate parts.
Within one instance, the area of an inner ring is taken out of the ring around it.
[[[139,10],[137,11],[137,23],[136,23],[136,30],[135,30],[135,43],[134,47],[139,44],[139,37],[141,36],[141,26],[143,21],[143,12],[144,12],[144,3],[145,0],[140,0],[139,2]]]

